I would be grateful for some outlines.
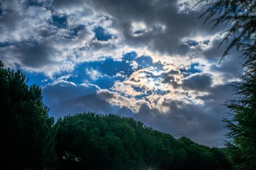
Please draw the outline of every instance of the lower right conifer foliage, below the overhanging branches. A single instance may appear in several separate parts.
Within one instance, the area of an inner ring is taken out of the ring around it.
[[[232,111],[230,118],[224,119],[232,138],[227,146],[234,169],[256,169],[256,75],[241,79],[233,85],[236,100],[227,104]]]

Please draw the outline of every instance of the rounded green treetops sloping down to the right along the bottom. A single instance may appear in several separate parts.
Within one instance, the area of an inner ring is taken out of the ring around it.
[[[220,169],[227,165],[218,148],[212,150],[185,137],[175,139],[132,118],[75,114],[60,118],[55,129],[59,163],[77,161],[81,169]]]

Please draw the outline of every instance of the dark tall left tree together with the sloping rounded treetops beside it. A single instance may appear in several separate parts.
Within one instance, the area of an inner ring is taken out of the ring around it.
[[[229,169],[225,149],[143,126],[133,118],[48,115],[37,85],[0,62],[0,169]]]

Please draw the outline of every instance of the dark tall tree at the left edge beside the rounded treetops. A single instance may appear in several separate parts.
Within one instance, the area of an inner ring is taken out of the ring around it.
[[[0,61],[0,167],[40,168],[53,155],[53,118],[40,88]]]

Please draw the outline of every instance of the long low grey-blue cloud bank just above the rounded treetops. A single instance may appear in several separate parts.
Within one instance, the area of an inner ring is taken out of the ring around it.
[[[142,103],[139,111],[134,113],[125,106],[119,107],[109,103],[109,99],[122,97],[110,91],[99,91],[96,85],[75,85],[67,81],[59,81],[42,89],[44,103],[51,108],[50,113],[54,113],[55,118],[87,111],[131,116],[157,130],[176,137],[184,134],[208,146],[215,146],[215,140],[223,138],[226,133],[221,120],[227,110],[222,103],[228,99],[230,93],[230,87],[218,85],[212,87],[209,94],[200,97],[205,101],[205,105],[166,99],[162,106],[170,109],[167,113],[150,108],[147,103]],[[120,102],[124,101],[121,99]]]

